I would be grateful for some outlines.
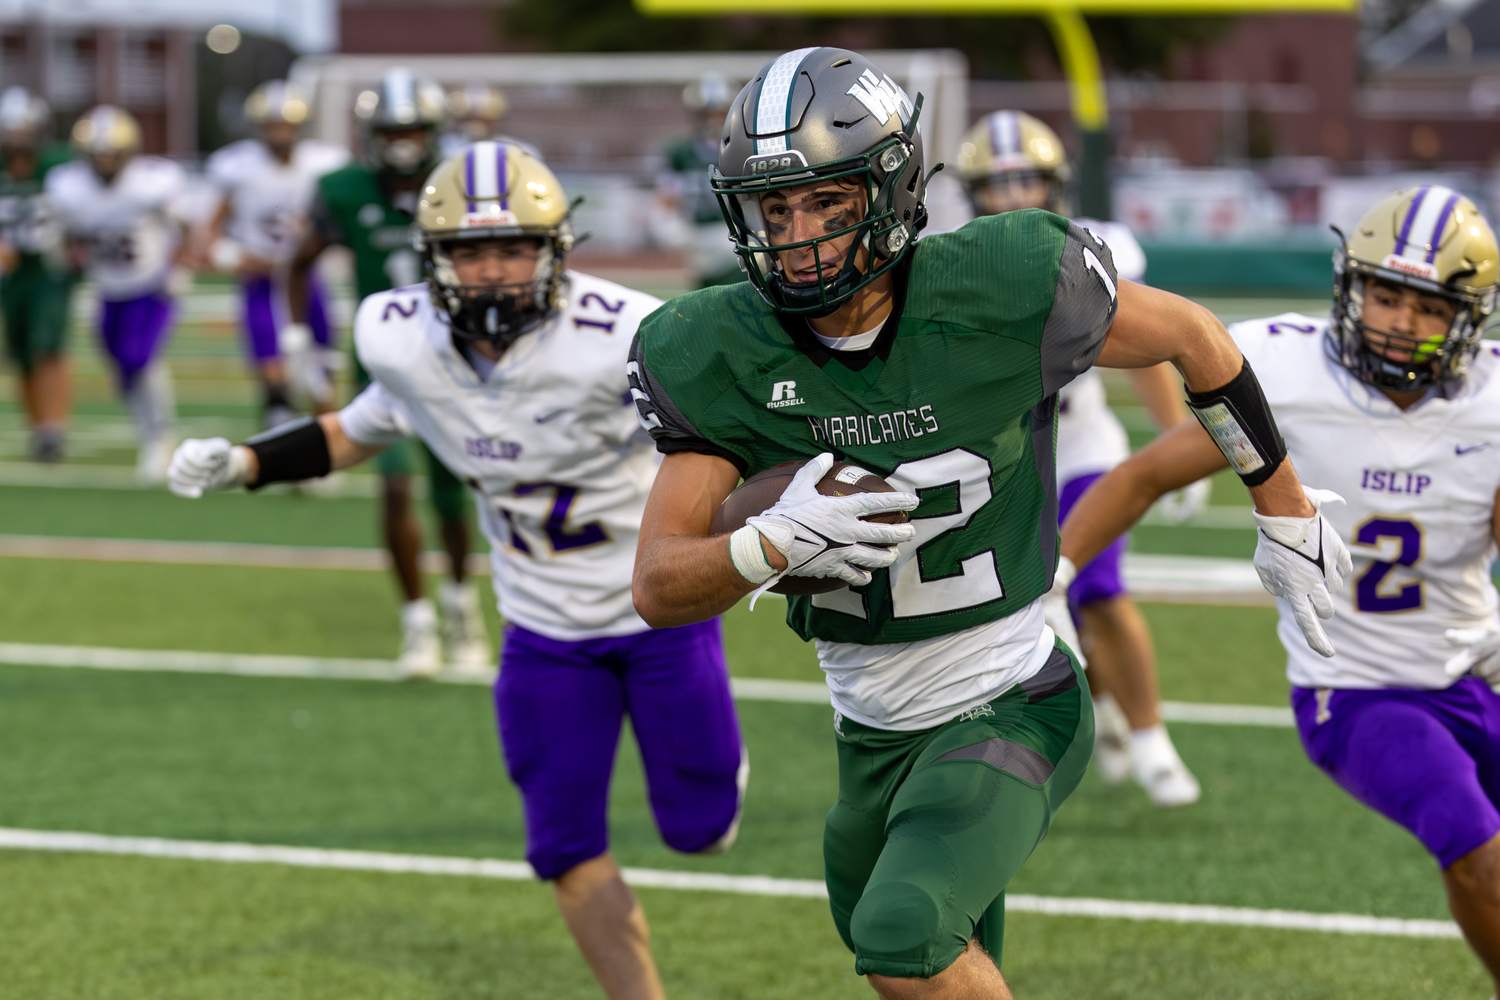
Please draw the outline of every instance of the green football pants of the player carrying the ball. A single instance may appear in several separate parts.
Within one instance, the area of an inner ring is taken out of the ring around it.
[[[1005,886],[1094,753],[1072,654],[1059,642],[1035,676],[936,729],[836,729],[824,871],[855,972],[927,979],[970,940],[999,966]]]

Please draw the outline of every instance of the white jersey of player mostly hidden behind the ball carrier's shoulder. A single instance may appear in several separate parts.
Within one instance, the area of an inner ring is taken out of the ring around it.
[[[1114,273],[1138,282],[1146,274],[1146,252],[1118,222],[1076,219],[1108,244]],[[1130,457],[1130,438],[1104,399],[1104,379],[1089,369],[1058,393],[1058,483],[1090,472],[1107,472]]]

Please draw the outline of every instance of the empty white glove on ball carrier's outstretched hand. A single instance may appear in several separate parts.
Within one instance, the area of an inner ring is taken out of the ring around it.
[[[1312,504],[1311,517],[1270,517],[1256,511],[1256,573],[1272,597],[1292,606],[1292,615],[1312,649],[1334,655],[1318,618],[1334,618],[1334,591],[1354,568],[1344,540],[1323,517],[1323,504],[1344,502],[1334,490],[1302,487]]]

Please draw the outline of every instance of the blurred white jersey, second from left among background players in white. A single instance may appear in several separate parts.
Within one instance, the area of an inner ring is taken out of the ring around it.
[[[260,139],[240,139],[210,156],[207,172],[230,201],[230,237],[258,258],[285,264],[308,228],[318,178],[348,160],[342,145],[302,139],[282,163]]]

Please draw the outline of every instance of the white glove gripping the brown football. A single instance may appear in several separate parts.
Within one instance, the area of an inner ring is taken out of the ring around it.
[[[860,520],[867,514],[915,510],[915,493],[855,493],[824,496],[818,483],[834,465],[822,453],[792,477],[776,507],[746,520],[786,556],[783,576],[832,576],[849,586],[870,582],[870,573],[896,562],[896,546],[916,537],[916,526]],[[768,583],[770,586],[770,583]]]

